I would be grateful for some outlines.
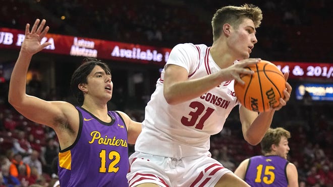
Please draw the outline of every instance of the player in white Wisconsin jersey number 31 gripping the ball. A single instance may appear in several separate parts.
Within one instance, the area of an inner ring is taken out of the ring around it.
[[[253,5],[224,7],[212,18],[211,47],[185,43],[172,49],[146,106],[136,152],[130,156],[130,186],[249,186],[210,157],[209,138],[223,129],[239,105],[234,81],[244,83],[240,74],[253,73],[244,67],[260,61],[249,56],[261,20],[261,10]],[[261,141],[291,90],[287,82],[280,105],[268,112],[239,107],[247,142]]]

